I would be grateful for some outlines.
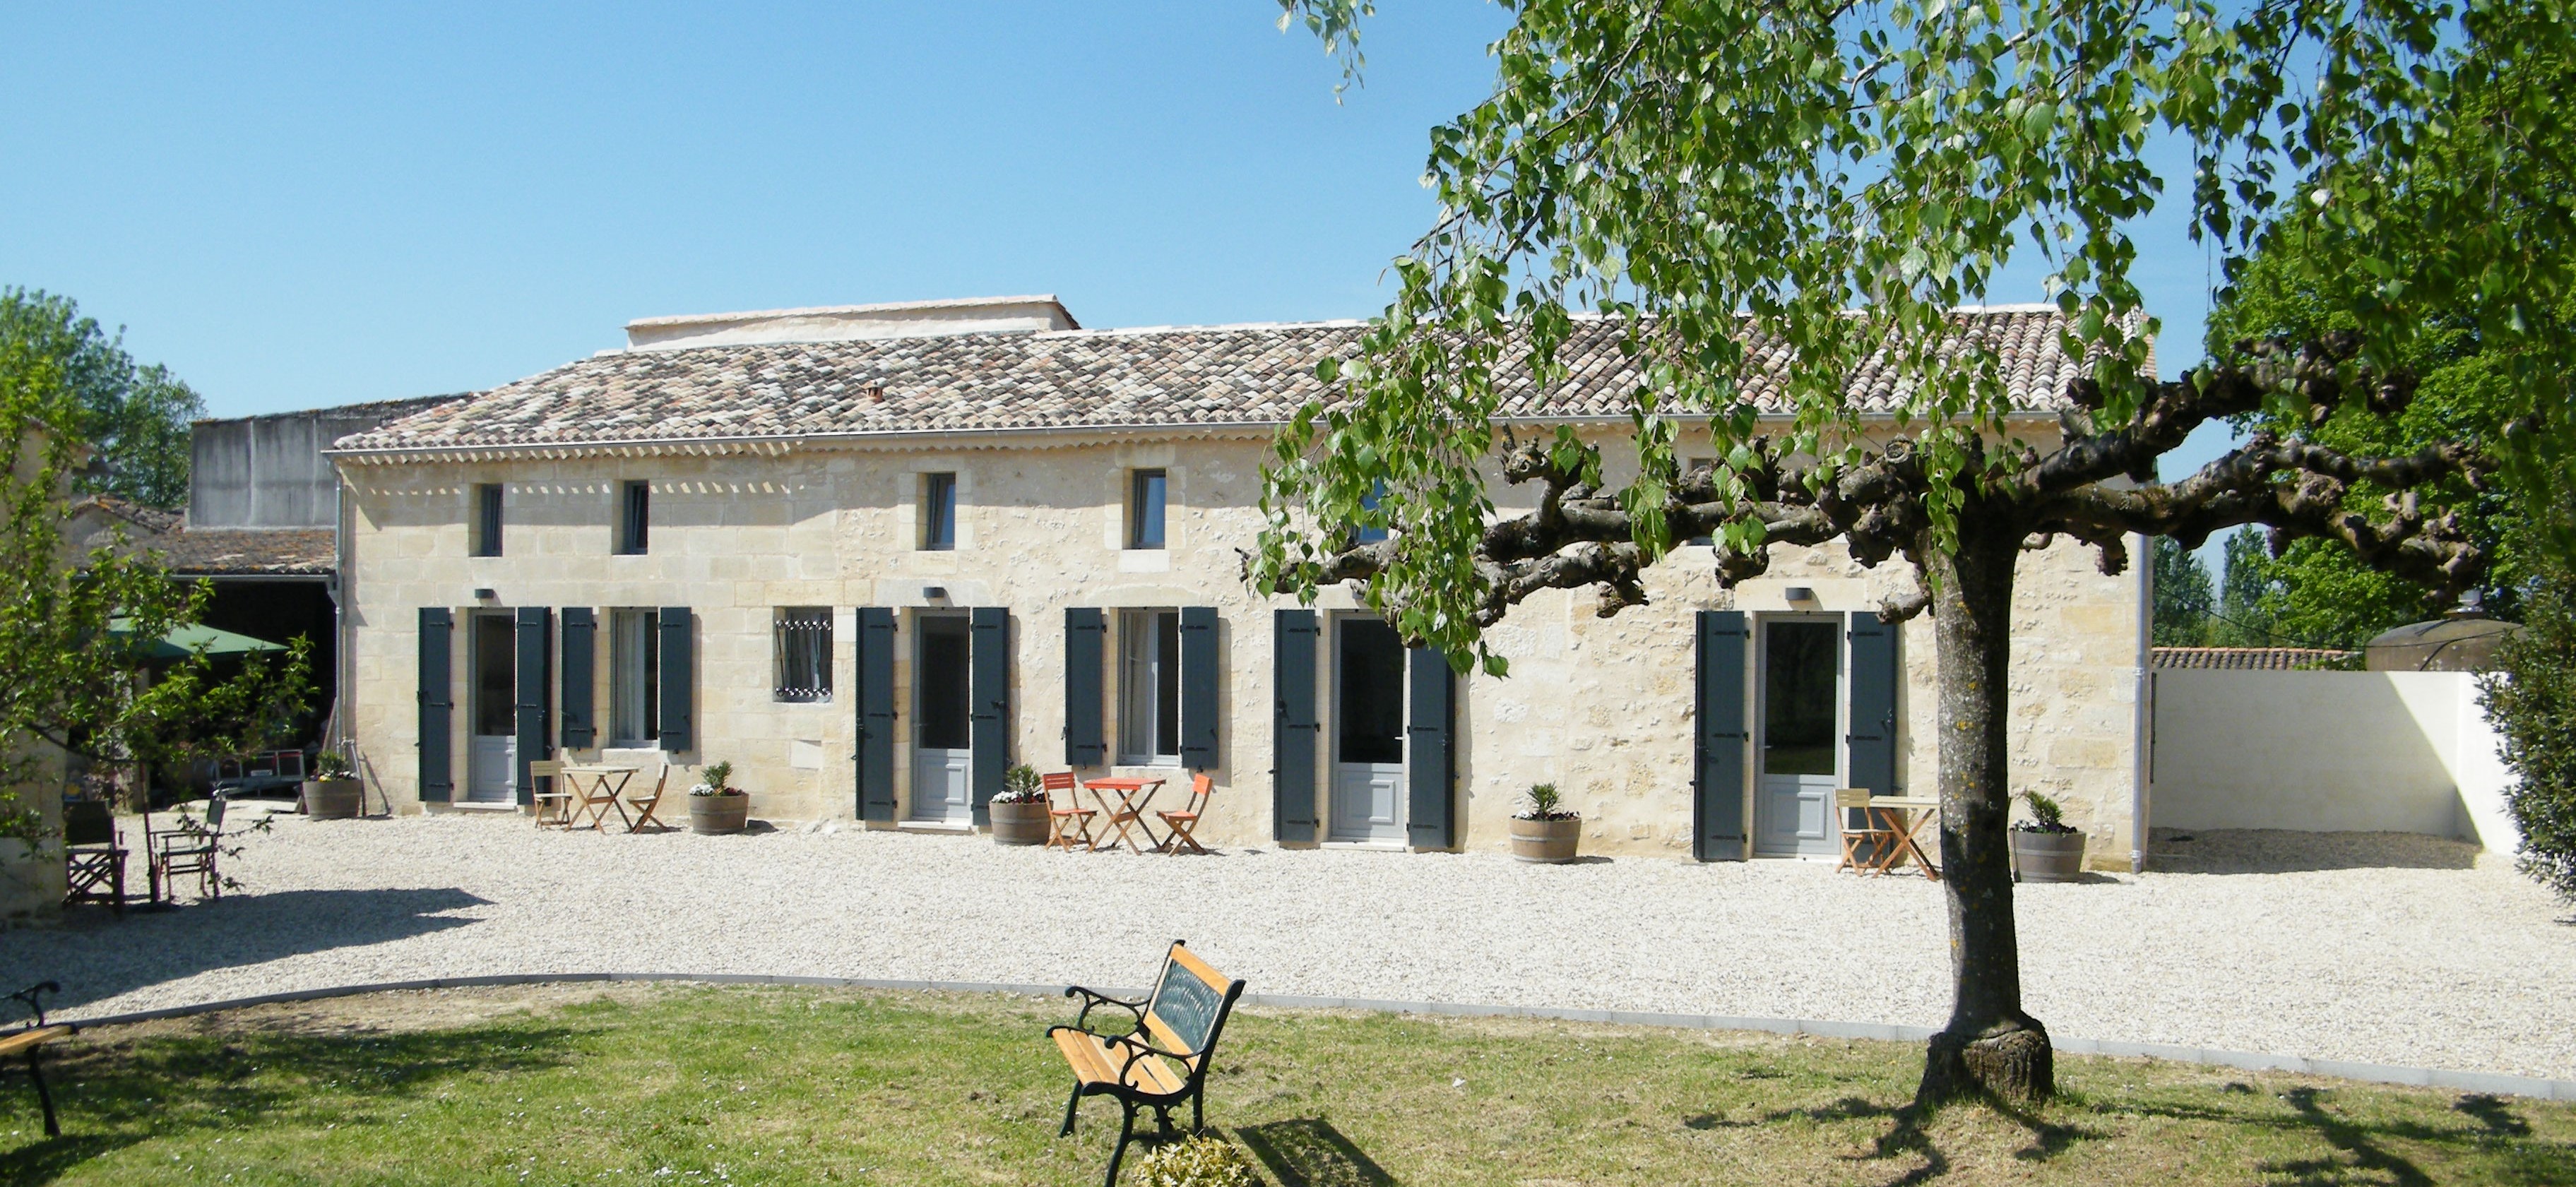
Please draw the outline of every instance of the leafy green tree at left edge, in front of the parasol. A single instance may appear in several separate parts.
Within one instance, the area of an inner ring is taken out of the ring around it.
[[[72,474],[88,461],[82,407],[62,358],[0,340],[0,837],[46,839],[33,796],[59,793],[54,760],[185,765],[263,749],[307,690],[307,641],[278,659],[216,669],[198,651],[157,657],[198,621],[211,587],[183,584],[121,538],[64,543]]]

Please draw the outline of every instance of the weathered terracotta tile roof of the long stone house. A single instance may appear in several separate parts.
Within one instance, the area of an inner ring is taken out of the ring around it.
[[[2076,366],[2058,353],[2056,309],[1996,306],[1960,322],[1994,345],[2020,407],[2063,407]],[[1309,322],[603,353],[340,438],[335,451],[1278,425],[1324,394],[1314,363],[1352,355],[1360,332]],[[1507,384],[1504,415],[1628,417],[1638,373],[1615,322],[1579,322],[1561,358],[1569,379],[1546,391]],[[1785,350],[1757,345],[1754,358],[1749,394],[1777,402]],[[1878,366],[1850,389],[1862,409],[1896,399]]]

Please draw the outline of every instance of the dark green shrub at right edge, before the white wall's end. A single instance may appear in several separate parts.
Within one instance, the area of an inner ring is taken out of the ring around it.
[[[2504,793],[2522,832],[2517,865],[2576,904],[2576,577],[2553,572],[2532,584],[2522,633],[2496,659],[2481,703],[2517,775]]]

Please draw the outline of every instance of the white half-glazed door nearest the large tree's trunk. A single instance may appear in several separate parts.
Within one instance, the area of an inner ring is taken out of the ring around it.
[[[1762,621],[1754,852],[1834,857],[1842,827],[1842,621]]]

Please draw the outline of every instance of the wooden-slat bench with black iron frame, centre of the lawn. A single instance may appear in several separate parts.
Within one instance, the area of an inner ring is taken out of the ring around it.
[[[1084,1002],[1074,1025],[1046,1030],[1074,1069],[1074,1094],[1064,1099],[1061,1133],[1074,1133],[1074,1107],[1082,1097],[1115,1097],[1126,1115],[1118,1123],[1118,1146],[1110,1148],[1110,1174],[1103,1179],[1115,1187],[1118,1161],[1136,1138],[1139,1110],[1151,1107],[1154,1123],[1170,1133],[1172,1107],[1188,1099],[1190,1128],[1208,1128],[1208,1058],[1226,1030],[1226,1014],[1234,1014],[1234,999],[1244,996],[1244,984],[1208,968],[1182,940],[1172,940],[1154,996],[1128,1002],[1082,986],[1066,986],[1064,996]],[[1092,1030],[1092,1009],[1100,1007],[1123,1009],[1126,1030]]]

